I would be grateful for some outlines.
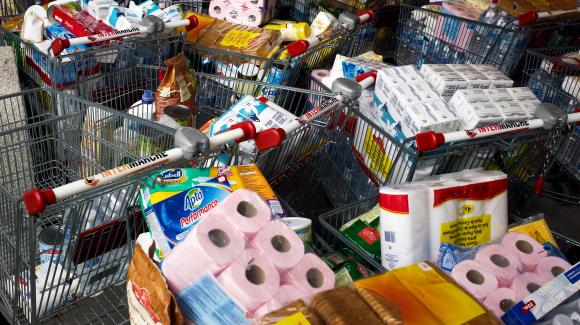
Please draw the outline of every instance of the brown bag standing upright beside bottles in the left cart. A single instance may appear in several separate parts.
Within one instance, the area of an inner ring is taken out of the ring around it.
[[[195,108],[195,85],[187,70],[187,62],[183,53],[165,61],[167,72],[155,92],[155,121],[159,121],[169,105],[181,104],[189,107],[193,115],[193,125],[196,124],[197,110]]]

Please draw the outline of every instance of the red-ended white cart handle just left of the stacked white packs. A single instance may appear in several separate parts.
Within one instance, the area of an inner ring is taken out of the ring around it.
[[[264,151],[278,147],[282,144],[282,141],[284,141],[288,134],[296,131],[308,121],[326,114],[326,112],[334,110],[347,100],[358,99],[363,89],[374,85],[377,79],[377,72],[370,71],[357,76],[356,79],[357,82],[344,78],[335,80],[332,84],[333,92],[336,93],[334,97],[325,100],[318,107],[313,108],[281,128],[271,128],[256,133],[254,138],[256,141],[256,148],[258,148],[259,151]],[[262,98],[261,100],[264,102],[268,101],[266,98]]]

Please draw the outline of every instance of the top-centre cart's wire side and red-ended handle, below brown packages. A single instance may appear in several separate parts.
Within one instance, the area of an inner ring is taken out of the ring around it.
[[[271,57],[259,57],[223,50],[185,45],[184,52],[193,63],[196,72],[254,79],[287,86],[303,86],[300,78],[304,71],[332,64],[334,56],[341,51],[345,42],[359,25],[371,21],[372,15],[361,12],[357,15],[343,13],[339,23],[317,37],[299,40],[278,49]],[[247,78],[247,77],[246,77]],[[270,99],[276,93],[263,93]]]

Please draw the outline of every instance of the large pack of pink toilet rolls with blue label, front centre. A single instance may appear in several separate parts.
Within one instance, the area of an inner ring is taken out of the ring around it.
[[[161,270],[188,319],[219,322],[217,313],[222,321],[249,322],[334,287],[332,270],[318,256],[305,255],[302,240],[284,222],[270,219],[257,194],[237,190],[165,256]],[[205,294],[221,298],[194,302]]]

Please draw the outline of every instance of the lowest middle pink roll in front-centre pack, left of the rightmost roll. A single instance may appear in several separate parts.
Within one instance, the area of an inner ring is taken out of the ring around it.
[[[240,254],[217,280],[246,311],[252,311],[272,299],[280,287],[280,274],[255,249]]]

